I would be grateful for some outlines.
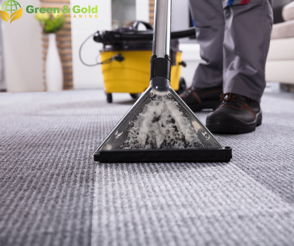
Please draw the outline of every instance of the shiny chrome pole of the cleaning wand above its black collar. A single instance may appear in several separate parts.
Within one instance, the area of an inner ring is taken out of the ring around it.
[[[155,0],[152,56],[170,56],[171,0]]]

